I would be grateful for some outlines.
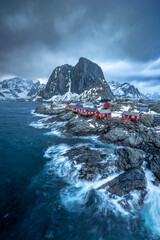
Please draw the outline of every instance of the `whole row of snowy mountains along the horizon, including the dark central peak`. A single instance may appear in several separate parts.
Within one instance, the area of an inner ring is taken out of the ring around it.
[[[0,100],[97,101],[114,97],[160,100],[160,94],[145,96],[129,83],[107,83],[102,69],[82,57],[74,67],[68,64],[56,67],[46,85],[18,77],[0,82]]]

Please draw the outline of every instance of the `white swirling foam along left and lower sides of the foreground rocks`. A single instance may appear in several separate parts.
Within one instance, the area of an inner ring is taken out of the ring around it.
[[[75,147],[81,146],[84,144],[76,144]],[[122,200],[120,197],[115,197],[111,199],[109,197],[109,193],[107,193],[106,189],[99,189],[103,184],[111,181],[115,177],[117,177],[120,173],[116,173],[115,167],[111,166],[110,168],[110,176],[102,179],[99,175],[94,181],[86,181],[79,179],[79,170],[81,169],[82,164],[75,164],[74,163],[74,171],[73,166],[71,166],[71,162],[68,161],[68,158],[63,156],[67,150],[69,150],[69,146],[66,144],[60,144],[58,146],[52,146],[47,149],[44,154],[44,157],[51,158],[51,161],[48,162],[47,169],[48,171],[54,171],[58,176],[63,177],[70,185],[65,187],[63,191],[61,191],[61,200],[63,205],[69,211],[76,211],[77,207],[80,207],[85,204],[88,200],[88,196],[91,190],[95,190],[99,196],[101,204],[100,208],[108,209],[113,208],[122,214],[128,214],[122,206],[119,204],[119,201]],[[108,158],[108,157],[107,157]],[[115,158],[113,154],[111,158],[106,158],[106,162]]]

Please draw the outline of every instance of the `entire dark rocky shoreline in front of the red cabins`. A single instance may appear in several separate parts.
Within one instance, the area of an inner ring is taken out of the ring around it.
[[[59,127],[64,136],[96,135],[103,143],[120,146],[115,147],[114,160],[109,160],[107,153],[86,146],[71,148],[64,156],[71,163],[72,171],[77,164],[81,164],[78,169],[79,179],[94,181],[99,176],[100,179],[106,179],[117,174],[99,189],[105,190],[110,198],[123,197],[119,200],[123,208],[131,209],[129,200],[133,199],[132,191],[140,194],[138,206],[144,202],[147,194],[144,162],[147,163],[146,168],[155,176],[153,183],[156,186],[160,184],[160,135],[151,124],[148,126],[145,117],[141,121],[98,119],[66,110],[65,105],[55,109],[42,105],[36,108],[35,113],[50,115],[50,118],[42,121],[44,126],[66,122],[65,126]]]

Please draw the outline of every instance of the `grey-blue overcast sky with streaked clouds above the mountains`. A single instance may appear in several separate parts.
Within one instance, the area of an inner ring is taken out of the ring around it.
[[[81,56],[107,81],[160,92],[160,0],[0,0],[0,80],[45,82]]]

